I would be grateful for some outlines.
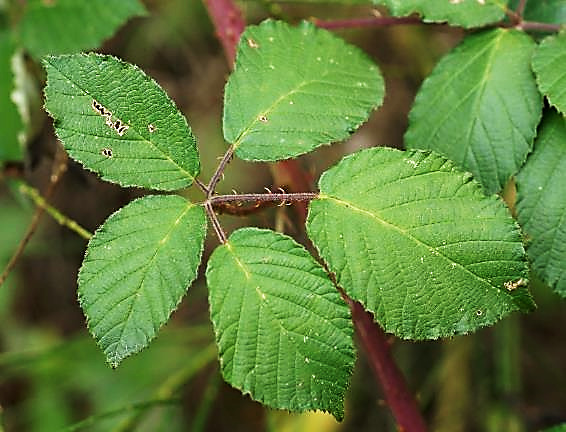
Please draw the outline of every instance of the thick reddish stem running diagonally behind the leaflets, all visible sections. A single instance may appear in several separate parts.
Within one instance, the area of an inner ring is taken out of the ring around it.
[[[236,44],[245,27],[242,14],[233,3],[233,0],[203,1],[212,18],[217,35],[224,46],[226,57],[230,61],[230,65],[232,65],[235,59]],[[229,46],[229,43],[232,43],[233,46]],[[290,185],[294,191],[310,189],[303,187],[306,183],[309,183],[309,176],[297,161],[279,162],[275,167],[276,176],[284,176],[288,179],[288,182],[282,184]],[[210,202],[208,204],[211,206]],[[295,208],[299,209],[298,206],[295,206]],[[214,213],[212,208],[208,210]],[[306,205],[300,208],[300,212],[301,219],[305,220]],[[222,237],[222,233],[217,232],[217,235],[219,235],[219,238]],[[368,354],[373,370],[381,382],[385,398],[399,424],[400,430],[404,432],[425,431],[425,423],[417,403],[409,391],[403,375],[391,357],[385,334],[379,325],[373,321],[372,316],[364,311],[362,305],[348,297],[345,297],[345,299],[350,304],[353,322],[360,336],[360,341]]]

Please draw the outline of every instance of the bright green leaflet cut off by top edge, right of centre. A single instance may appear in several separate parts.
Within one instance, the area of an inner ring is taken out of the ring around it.
[[[466,28],[480,27],[505,17],[507,0],[373,0],[392,15],[418,13],[424,22],[447,22]]]

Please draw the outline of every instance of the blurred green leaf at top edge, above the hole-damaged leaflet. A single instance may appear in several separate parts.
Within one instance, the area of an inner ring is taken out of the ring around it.
[[[93,48],[134,16],[139,0],[30,0],[19,24],[22,44],[36,58]]]

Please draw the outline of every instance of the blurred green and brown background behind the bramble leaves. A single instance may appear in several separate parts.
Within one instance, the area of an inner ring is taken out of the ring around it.
[[[12,0],[24,4],[23,0]],[[10,2],[0,0],[0,39],[7,37]],[[134,18],[100,48],[139,65],[186,114],[199,140],[208,180],[226,144],[222,140],[224,53],[202,3],[145,0],[148,16]],[[272,16],[370,16],[361,5],[240,3],[248,23]],[[303,156],[312,178],[363,147],[402,147],[407,114],[424,77],[463,36],[446,26],[398,26],[337,32],[362,47],[386,79],[385,103],[350,140]],[[0,53],[0,60],[2,53]],[[21,55],[28,76],[26,144],[3,157],[0,177],[0,268],[30,223],[34,206],[18,181],[44,191],[56,153],[40,109],[43,72]],[[0,97],[10,77],[0,76]],[[2,107],[3,105],[3,107]],[[4,123],[18,116],[0,100]],[[0,139],[3,139],[0,131]],[[2,148],[3,142],[0,142]],[[0,152],[0,154],[3,154]],[[234,160],[219,191],[259,192],[279,186],[267,164]],[[144,191],[104,183],[70,161],[51,204],[90,231]],[[201,199],[195,188],[187,191]],[[246,217],[223,216],[227,231],[241,225],[276,227],[305,241],[291,207]],[[205,260],[216,246],[207,242]],[[290,415],[264,409],[219,376],[207,291],[201,276],[149,349],[111,370],[86,329],[76,296],[85,240],[44,216],[6,284],[0,287],[0,431],[394,431],[395,423],[364,353],[358,361],[341,424],[325,414]],[[394,340],[396,359],[435,431],[533,431],[566,421],[566,307],[544,286],[532,287],[539,308],[493,328],[451,340]]]

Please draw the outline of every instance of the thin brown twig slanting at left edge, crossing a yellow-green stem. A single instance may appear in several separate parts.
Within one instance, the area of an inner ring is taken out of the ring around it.
[[[68,160],[67,154],[61,148],[61,146],[57,145],[57,151],[55,153],[55,159],[53,161],[53,167],[51,169],[51,175],[49,176],[49,184],[48,184],[47,190],[45,191],[45,194],[44,194],[45,199],[49,199],[51,197],[51,195],[53,195],[53,192],[55,191],[55,187],[57,186],[57,183],[59,183],[61,176],[67,170],[67,160]],[[2,286],[4,284],[4,282],[6,282],[6,279],[8,279],[8,276],[10,275],[11,271],[16,266],[16,263],[18,262],[21,255],[23,254],[27,244],[29,243],[29,241],[31,240],[33,235],[35,234],[35,231],[37,230],[37,227],[39,225],[39,221],[41,220],[41,217],[43,216],[44,211],[45,211],[45,207],[41,207],[41,206],[37,206],[37,208],[35,209],[35,212],[34,212],[32,218],[31,218],[31,222],[28,225],[28,228],[26,230],[26,233],[24,234],[24,237],[20,241],[20,244],[16,248],[16,251],[14,252],[12,257],[10,258],[10,261],[8,261],[6,268],[4,268],[4,271],[0,275],[0,286]]]

